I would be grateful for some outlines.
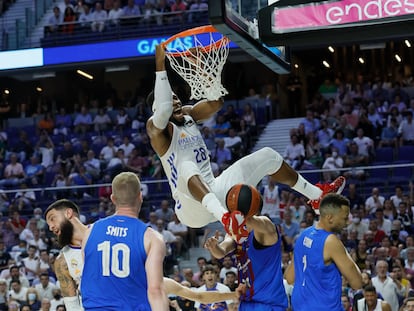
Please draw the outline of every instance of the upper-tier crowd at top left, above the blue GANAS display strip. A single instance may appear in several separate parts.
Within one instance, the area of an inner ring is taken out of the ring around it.
[[[204,0],[64,0],[53,8],[45,34],[103,32],[120,25],[171,25],[198,21],[208,8]]]

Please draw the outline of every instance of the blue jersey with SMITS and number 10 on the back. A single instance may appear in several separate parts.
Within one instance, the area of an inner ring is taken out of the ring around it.
[[[93,225],[84,249],[85,310],[151,310],[145,272],[147,228],[138,219],[116,215]]]

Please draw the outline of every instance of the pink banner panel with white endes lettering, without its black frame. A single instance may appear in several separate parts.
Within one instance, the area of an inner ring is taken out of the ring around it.
[[[276,7],[272,30],[274,33],[311,30],[409,14],[414,14],[414,0],[341,0]]]

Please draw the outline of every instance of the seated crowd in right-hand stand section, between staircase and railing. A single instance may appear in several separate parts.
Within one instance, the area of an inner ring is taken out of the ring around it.
[[[369,172],[358,167],[382,162],[377,153],[381,156],[384,148],[393,148],[398,158],[401,146],[414,146],[414,98],[399,82],[391,86],[361,80],[336,86],[326,81],[320,91],[299,128],[290,133],[284,158],[295,169],[330,170],[323,174],[325,181],[339,174],[364,179]],[[326,98],[324,92],[332,97]]]

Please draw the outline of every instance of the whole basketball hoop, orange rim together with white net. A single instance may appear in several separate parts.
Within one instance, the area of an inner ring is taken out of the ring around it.
[[[228,94],[221,84],[221,72],[229,55],[229,42],[213,26],[200,26],[162,43],[171,67],[190,86],[190,99],[217,100]]]

